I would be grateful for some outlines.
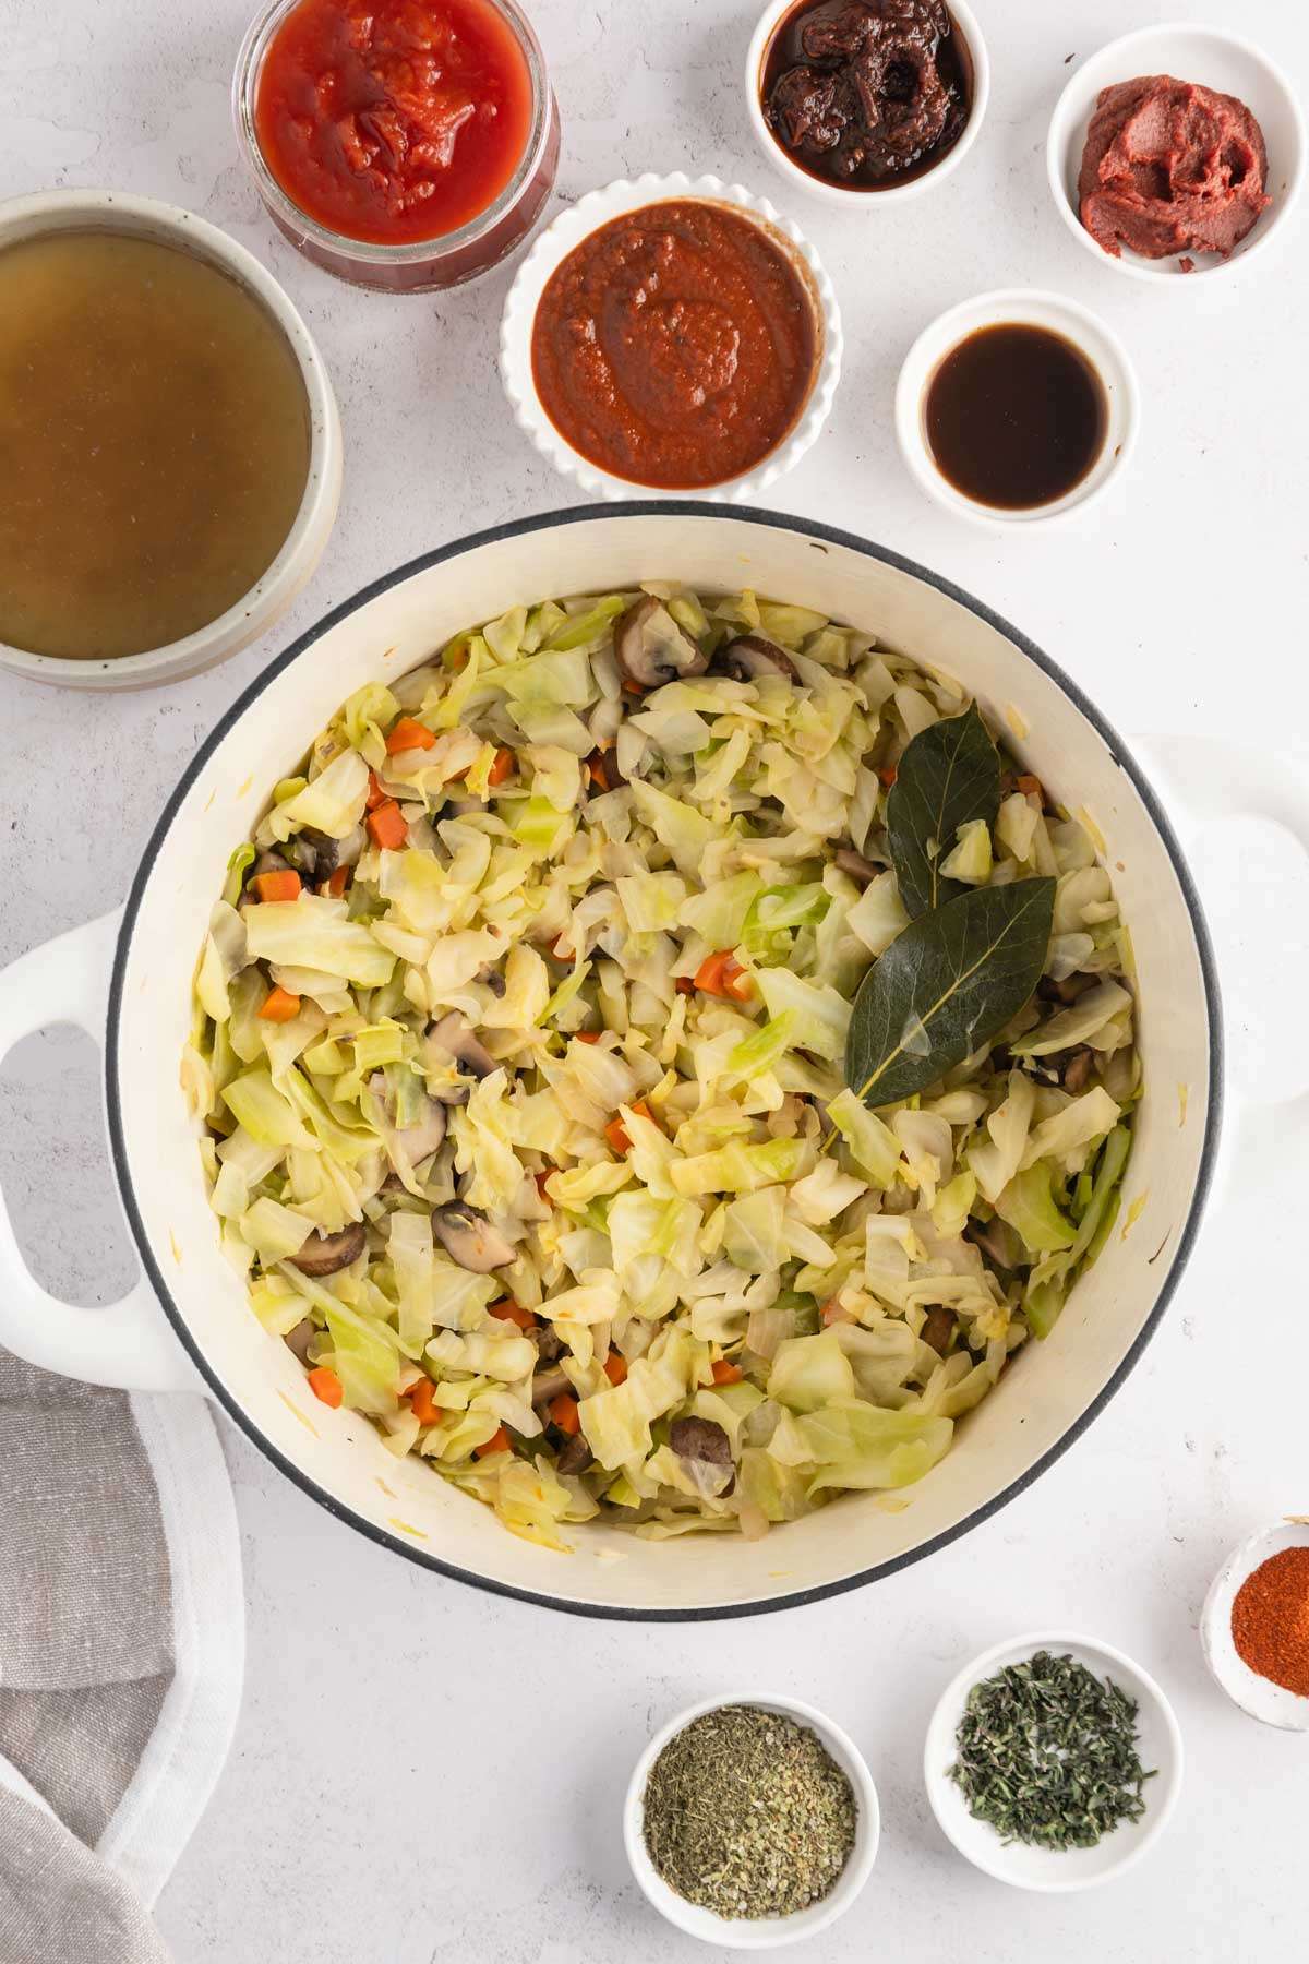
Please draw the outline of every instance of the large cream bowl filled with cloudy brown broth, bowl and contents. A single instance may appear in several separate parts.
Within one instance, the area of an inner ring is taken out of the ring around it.
[[[243,246],[108,191],[0,204],[2,668],[212,668],[290,605],[340,489],[322,355]]]

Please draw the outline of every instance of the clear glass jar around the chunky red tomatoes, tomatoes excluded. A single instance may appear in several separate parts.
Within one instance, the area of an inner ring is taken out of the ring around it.
[[[536,39],[526,14],[518,6],[518,0],[485,0],[485,4],[491,6],[510,27],[518,47],[522,49],[532,82],[532,130],[522,157],[518,159],[518,169],[510,177],[508,185],[497,192],[491,204],[475,218],[469,218],[467,224],[459,226],[455,232],[436,232],[430,240],[404,240],[402,244],[389,246],[379,240],[351,238],[349,232],[336,232],[332,226],[324,226],[318,218],[306,212],[302,204],[296,204],[281,179],[269,169],[269,161],[263,155],[263,145],[259,143],[259,132],[255,128],[255,94],[273,35],[287,16],[300,6],[300,0],[269,0],[269,4],[245,29],[245,39],[241,41],[241,49],[236,57],[236,73],[232,77],[232,118],[236,122],[236,134],[245,155],[245,163],[253,171],[259,185],[259,192],[281,222],[285,222],[292,232],[298,232],[304,240],[312,240],[314,244],[324,246],[341,257],[355,259],[361,265],[394,267],[428,265],[434,259],[444,259],[467,246],[475,246],[481,238],[493,232],[508,212],[512,212],[514,204],[536,177],[546,143],[550,141],[550,81],[540,41]]]

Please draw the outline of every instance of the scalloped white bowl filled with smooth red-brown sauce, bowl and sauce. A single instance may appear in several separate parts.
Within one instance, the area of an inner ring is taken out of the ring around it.
[[[606,499],[756,499],[816,440],[840,363],[836,293],[799,228],[681,171],[561,212],[500,324],[520,428]]]

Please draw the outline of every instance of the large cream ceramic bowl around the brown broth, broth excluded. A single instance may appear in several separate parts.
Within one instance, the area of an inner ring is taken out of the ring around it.
[[[216,621],[183,640],[147,648],[143,654],[124,654],[112,662],[69,662],[0,644],[0,668],[29,682],[57,682],[71,689],[145,689],[214,668],[237,648],[257,640],[290,607],[318,566],[336,520],[341,497],[341,424],[324,359],[304,320],[255,255],[218,226],[177,204],[126,196],[118,191],[43,191],[0,204],[0,249],[47,232],[88,228],[133,232],[179,246],[245,287],[287,336],[304,381],[310,416],[308,475],[294,522],[267,572]]]

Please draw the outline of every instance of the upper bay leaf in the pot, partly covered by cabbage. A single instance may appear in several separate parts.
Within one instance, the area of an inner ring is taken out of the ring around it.
[[[909,742],[887,797],[887,839],[895,878],[911,919],[964,894],[944,880],[940,862],[960,825],[995,823],[1001,805],[1001,760],[977,703],[944,717]]]

